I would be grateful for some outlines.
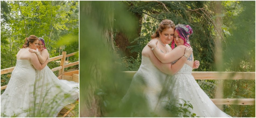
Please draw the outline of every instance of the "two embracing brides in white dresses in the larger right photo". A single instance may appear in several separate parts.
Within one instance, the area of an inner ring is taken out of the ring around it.
[[[193,108],[187,110],[196,116],[230,117],[211,101],[191,74],[192,69],[199,67],[189,43],[192,33],[189,25],[175,26],[171,20],[162,20],[142,50],[140,68],[122,102],[126,102],[132,92],[141,91],[148,110],[160,117],[168,116],[168,105],[180,107],[185,102],[192,104]],[[170,43],[171,47],[167,45]],[[178,116],[183,117],[184,114]]]

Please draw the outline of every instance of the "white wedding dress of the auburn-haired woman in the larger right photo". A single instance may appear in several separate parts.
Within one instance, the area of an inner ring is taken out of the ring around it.
[[[140,68],[134,74],[130,87],[123,97],[122,102],[128,101],[133,94],[132,92],[141,91],[142,93],[137,94],[142,94],[146,99],[150,112],[154,112],[167,74],[155,67],[149,57],[142,56],[141,58]]]

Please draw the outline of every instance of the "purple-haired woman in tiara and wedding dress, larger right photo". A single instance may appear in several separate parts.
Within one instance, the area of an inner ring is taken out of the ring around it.
[[[193,29],[189,25],[178,24],[175,26],[174,40],[171,43],[172,49],[177,46],[190,46],[189,36],[193,33]],[[157,41],[150,41],[150,47],[156,47]],[[161,53],[159,49],[153,50],[155,56],[163,63],[170,63],[172,55],[169,53]],[[161,92],[160,100],[155,108],[155,112],[162,116],[168,116],[165,110],[168,106],[184,105],[185,103],[193,107],[188,108],[190,113],[195,113],[199,117],[231,117],[220,110],[207,94],[200,88],[193,77],[192,69],[194,57],[193,53],[187,58],[184,66],[174,75],[168,75]],[[176,60],[177,61],[177,60]],[[175,62],[172,62],[175,65]],[[190,116],[189,112],[179,113],[178,117]],[[177,117],[177,116],[176,116]]]

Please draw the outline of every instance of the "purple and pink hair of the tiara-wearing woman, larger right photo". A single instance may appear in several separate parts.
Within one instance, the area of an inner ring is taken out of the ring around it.
[[[184,25],[186,28],[188,28],[189,30],[186,31],[185,29],[181,28],[181,27],[176,27],[175,28],[175,31],[177,31],[179,37],[181,37],[181,39],[184,40],[184,45],[185,46],[190,46],[187,42],[189,41],[189,38],[187,35],[191,35],[193,33],[193,29],[189,26],[189,25]],[[174,42],[175,39],[172,40],[172,49],[175,48],[175,42]]]

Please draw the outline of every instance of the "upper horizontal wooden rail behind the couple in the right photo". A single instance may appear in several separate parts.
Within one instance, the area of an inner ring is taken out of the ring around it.
[[[133,75],[137,71],[123,71],[127,74],[127,76],[130,76],[130,78],[133,78]],[[193,71],[192,75],[196,80],[224,80],[224,79],[246,79],[246,80],[255,80],[255,72],[196,72]]]

